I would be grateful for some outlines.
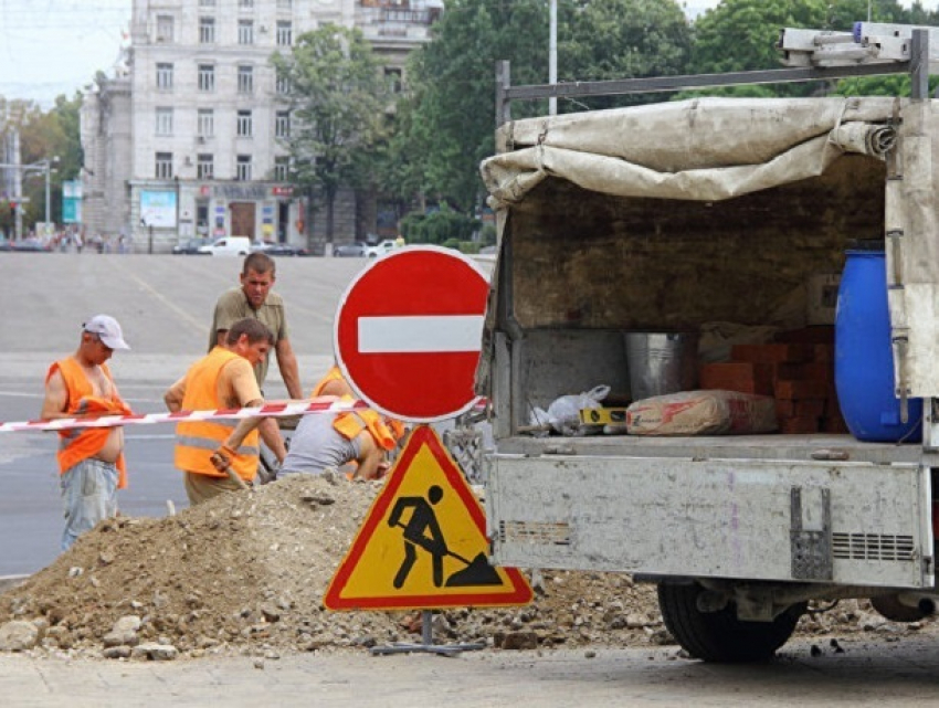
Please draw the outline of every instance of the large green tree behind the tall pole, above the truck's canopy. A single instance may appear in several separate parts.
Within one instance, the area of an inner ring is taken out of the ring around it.
[[[674,0],[559,0],[558,17],[558,73],[563,80],[684,68],[689,29]],[[433,41],[414,53],[409,70],[408,121],[394,139],[397,154],[412,158],[407,183],[464,212],[478,203],[478,165],[495,149],[497,60],[510,61],[514,84],[547,83],[546,0],[447,2]],[[513,105],[514,117],[545,113],[544,101]]]

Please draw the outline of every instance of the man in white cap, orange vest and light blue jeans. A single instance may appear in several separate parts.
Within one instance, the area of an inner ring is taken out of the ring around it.
[[[129,415],[107,366],[115,350],[129,348],[114,317],[95,315],[87,320],[75,353],[49,368],[40,418]],[[127,486],[124,429],[62,430],[56,456],[65,506],[64,551],[81,533],[117,514],[117,490]]]

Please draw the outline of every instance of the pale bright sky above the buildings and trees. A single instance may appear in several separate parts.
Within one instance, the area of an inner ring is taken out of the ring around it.
[[[694,17],[719,0],[684,0]],[[903,2],[909,4],[909,2]],[[0,95],[25,98],[48,109],[110,75],[127,45],[131,0],[0,0]],[[936,8],[939,0],[926,0]]]

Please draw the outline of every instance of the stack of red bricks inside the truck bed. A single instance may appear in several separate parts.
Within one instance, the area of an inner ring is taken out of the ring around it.
[[[847,433],[835,394],[834,328],[805,327],[766,345],[735,345],[700,367],[700,388],[771,395],[781,433]]]

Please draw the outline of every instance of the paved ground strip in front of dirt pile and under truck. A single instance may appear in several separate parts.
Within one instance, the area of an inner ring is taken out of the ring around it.
[[[330,708],[716,707],[935,705],[935,648],[844,643],[810,655],[794,643],[774,662],[713,666],[674,649],[473,652],[456,658],[300,655],[279,661],[61,662],[0,655],[4,705],[328,706]]]

